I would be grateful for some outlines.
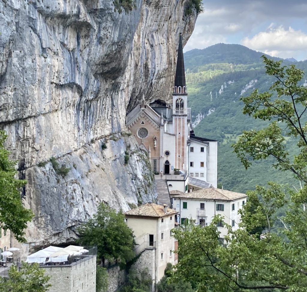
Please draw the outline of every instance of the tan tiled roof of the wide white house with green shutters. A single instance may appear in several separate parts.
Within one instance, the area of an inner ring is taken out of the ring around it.
[[[230,190],[208,188],[208,189],[196,190],[195,192],[191,193],[173,195],[173,197],[184,198],[184,199],[232,201],[240,198],[245,198],[246,194],[236,193]]]

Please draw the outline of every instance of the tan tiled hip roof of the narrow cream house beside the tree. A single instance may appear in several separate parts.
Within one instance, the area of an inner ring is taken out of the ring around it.
[[[164,217],[170,214],[176,214],[177,211],[167,208],[167,212],[164,212],[164,207],[161,205],[157,205],[154,203],[148,203],[138,208],[131,209],[127,211],[125,214],[130,216],[147,216],[147,217]]]

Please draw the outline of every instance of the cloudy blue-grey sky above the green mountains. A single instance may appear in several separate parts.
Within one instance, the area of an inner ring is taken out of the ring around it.
[[[203,0],[184,51],[242,44],[281,58],[307,59],[306,0]]]

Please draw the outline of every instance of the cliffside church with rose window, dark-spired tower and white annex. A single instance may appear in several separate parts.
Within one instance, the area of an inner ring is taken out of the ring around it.
[[[180,35],[173,103],[166,104],[158,99],[146,104],[143,98],[127,114],[126,126],[146,152],[156,174],[162,171],[169,181],[176,180],[180,173],[184,191],[187,191],[189,175],[216,187],[217,141],[195,136],[190,121]]]

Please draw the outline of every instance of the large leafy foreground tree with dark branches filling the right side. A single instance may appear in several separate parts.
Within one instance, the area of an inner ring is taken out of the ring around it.
[[[242,229],[227,226],[224,243],[216,227],[219,216],[206,227],[175,230],[180,262],[173,280],[197,283],[198,291],[306,291],[307,286],[307,88],[299,85],[303,72],[282,66],[263,56],[266,73],[276,81],[271,92],[255,90],[243,113],[270,124],[259,131],[245,131],[234,145],[235,153],[248,168],[253,160],[275,159],[276,171],[290,171],[302,183],[301,189],[270,182],[267,188],[249,191],[241,214]],[[297,139],[297,151],[286,148],[285,135]],[[279,217],[278,210],[286,208]],[[276,221],[278,232],[272,232]],[[265,229],[263,234],[260,234]],[[260,236],[261,235],[261,236]]]

